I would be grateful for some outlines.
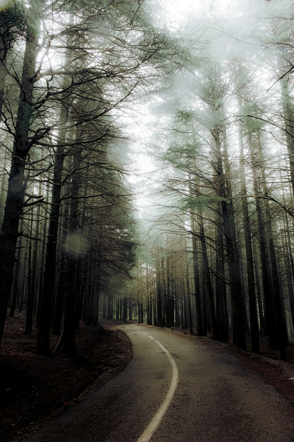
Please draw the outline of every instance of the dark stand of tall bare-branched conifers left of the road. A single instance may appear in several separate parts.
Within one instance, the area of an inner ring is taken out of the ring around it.
[[[26,304],[37,354],[75,354],[100,293],[130,277],[136,232],[124,112],[175,45],[137,1],[8,1],[0,11],[0,337]],[[119,291],[119,289],[118,289]]]

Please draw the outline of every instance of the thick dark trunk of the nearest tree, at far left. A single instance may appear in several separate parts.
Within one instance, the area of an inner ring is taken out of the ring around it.
[[[32,0],[28,11],[30,26],[27,27],[26,33],[19,107],[15,123],[7,197],[0,236],[0,255],[2,257],[0,260],[0,343],[3,336],[7,304],[11,290],[19,217],[22,213],[26,156],[30,149],[30,119],[33,115],[33,87],[39,50],[38,40],[40,37],[42,6],[43,2],[41,0]]]

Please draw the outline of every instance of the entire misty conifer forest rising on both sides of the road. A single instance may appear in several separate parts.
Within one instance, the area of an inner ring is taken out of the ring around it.
[[[0,340],[138,320],[286,360],[291,0],[5,0]]]

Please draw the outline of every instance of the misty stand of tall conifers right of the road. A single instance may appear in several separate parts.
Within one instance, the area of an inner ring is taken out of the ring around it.
[[[168,279],[179,301],[167,301],[167,277],[154,263],[162,280],[156,314],[165,324],[171,308],[175,324],[187,328],[189,299],[198,335],[212,330],[227,341],[231,329],[246,349],[247,331],[256,353],[259,334],[268,335],[269,347],[285,359],[293,333],[293,51],[286,24],[293,5],[286,2],[282,13],[279,2],[261,3],[258,11],[248,5],[242,35],[237,5],[230,15],[236,13],[236,26],[220,10],[212,27],[207,18],[191,24],[193,67],[168,92],[166,103],[173,99],[177,109],[161,105],[153,143],[162,164],[158,210],[165,212],[154,217],[153,231],[169,237]],[[155,187],[159,195],[158,181]]]

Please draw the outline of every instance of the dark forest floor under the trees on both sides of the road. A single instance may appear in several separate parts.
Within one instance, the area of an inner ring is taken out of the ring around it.
[[[137,321],[128,323],[137,324]],[[123,323],[102,320],[100,324],[102,327],[97,328],[80,324],[76,332],[77,358],[69,358],[62,352],[47,358],[34,354],[36,329],[30,336],[23,334],[25,312],[16,312],[15,318],[7,318],[0,350],[1,442],[24,439],[123,370],[132,357],[129,339],[115,328]],[[232,335],[230,343],[226,344],[212,340],[210,333],[207,337],[198,337],[189,335],[187,330],[174,327],[172,330],[200,345],[233,352],[244,369],[261,373],[264,381],[294,403],[293,340],[286,350],[287,362],[282,362],[279,351],[268,350],[263,337],[260,340],[261,355],[255,355],[250,351],[250,338],[248,351],[242,351],[232,345]],[[194,332],[196,334],[196,330]],[[53,351],[59,336],[51,335],[50,339]]]

